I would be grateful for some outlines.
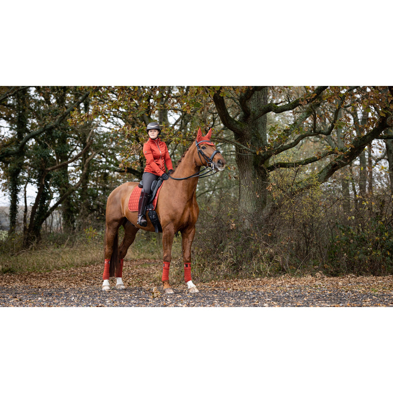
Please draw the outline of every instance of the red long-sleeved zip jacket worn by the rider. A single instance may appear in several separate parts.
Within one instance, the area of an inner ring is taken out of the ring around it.
[[[143,154],[146,158],[146,167],[144,168],[145,172],[161,176],[165,173],[165,165],[168,170],[173,169],[168,147],[160,138],[155,140],[149,138],[149,140],[143,145]]]

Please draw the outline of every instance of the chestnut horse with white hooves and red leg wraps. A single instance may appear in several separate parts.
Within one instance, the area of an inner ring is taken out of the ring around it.
[[[224,170],[225,160],[210,141],[212,130],[202,136],[199,128],[197,140],[186,151],[168,180],[163,182],[156,205],[156,212],[163,231],[163,276],[165,293],[173,293],[168,274],[171,261],[173,237],[180,231],[184,261],[184,279],[189,292],[198,292],[191,280],[191,245],[195,236],[195,224],[199,214],[196,199],[199,177]],[[205,169],[200,170],[202,166]],[[207,171],[207,172],[206,172]],[[147,226],[137,224],[138,212],[131,212],[128,201],[136,182],[124,183],[112,191],[107,201],[105,228],[105,265],[102,289],[110,289],[109,278],[116,277],[116,289],[125,289],[122,281],[123,259],[140,229],[154,232],[147,218]],[[118,230],[124,227],[124,238],[118,246]]]

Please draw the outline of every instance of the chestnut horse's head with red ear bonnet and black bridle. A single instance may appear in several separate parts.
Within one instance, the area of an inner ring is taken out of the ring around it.
[[[199,128],[197,140],[195,141],[197,146],[196,162],[198,166],[205,166],[211,169],[214,168],[217,172],[218,170],[224,170],[225,159],[210,140],[211,136],[212,129],[203,137],[202,131]]]

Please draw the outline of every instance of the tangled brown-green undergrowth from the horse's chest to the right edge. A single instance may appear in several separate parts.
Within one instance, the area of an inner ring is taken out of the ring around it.
[[[201,281],[290,275],[393,273],[392,198],[381,192],[352,204],[319,187],[281,198],[244,226],[237,200],[201,205],[193,247]],[[350,222],[350,225],[348,224]]]

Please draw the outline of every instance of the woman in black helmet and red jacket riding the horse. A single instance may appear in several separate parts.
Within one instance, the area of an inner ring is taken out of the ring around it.
[[[168,147],[159,136],[161,128],[158,123],[149,123],[146,127],[149,140],[143,145],[143,155],[146,158],[146,167],[142,175],[143,190],[140,192],[138,206],[138,222],[140,226],[146,226],[147,221],[144,216],[147,200],[150,197],[151,184],[154,180],[161,177],[168,180],[168,174],[165,173],[165,165],[169,174],[173,172],[172,161],[169,157]]]

